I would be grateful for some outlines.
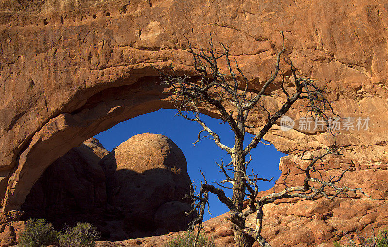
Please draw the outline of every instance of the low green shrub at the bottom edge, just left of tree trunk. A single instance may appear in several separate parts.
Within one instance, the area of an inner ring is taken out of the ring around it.
[[[165,244],[165,247],[194,247],[195,236],[193,232],[186,231],[183,236],[171,239]],[[207,239],[205,234],[198,237],[197,247],[216,247],[212,239]]]

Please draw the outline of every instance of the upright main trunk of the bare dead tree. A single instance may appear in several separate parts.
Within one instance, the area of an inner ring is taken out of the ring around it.
[[[243,137],[237,137],[235,139],[234,153],[232,153],[232,161],[235,169],[244,170],[245,155],[243,154]],[[236,206],[238,212],[242,212],[242,203],[245,197],[245,178],[241,172],[234,172],[235,182],[233,185],[232,202]],[[231,212],[232,213],[232,212]],[[233,224],[234,240],[238,247],[252,247],[255,240],[249,236],[245,231],[245,220],[242,220],[242,224]]]

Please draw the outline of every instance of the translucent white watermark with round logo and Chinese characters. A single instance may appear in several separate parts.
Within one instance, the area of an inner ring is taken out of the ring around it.
[[[323,118],[301,117],[294,121],[291,117],[283,115],[280,118],[280,129],[288,131],[296,129],[299,131],[323,131],[325,127],[333,131],[350,131],[350,130],[368,130],[369,117],[344,117],[344,118],[329,118],[325,121]],[[294,128],[295,127],[295,128]]]

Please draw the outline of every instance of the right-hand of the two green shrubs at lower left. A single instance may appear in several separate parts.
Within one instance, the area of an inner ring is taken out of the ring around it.
[[[94,247],[100,233],[90,223],[77,223],[75,227],[65,226],[59,238],[61,247]]]

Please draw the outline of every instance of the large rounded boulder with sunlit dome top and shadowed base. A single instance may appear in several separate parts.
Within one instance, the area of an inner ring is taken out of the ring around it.
[[[107,178],[108,202],[124,215],[124,228],[132,236],[187,229],[190,220],[184,212],[191,206],[182,198],[191,181],[183,152],[168,137],[135,135],[100,164]]]

